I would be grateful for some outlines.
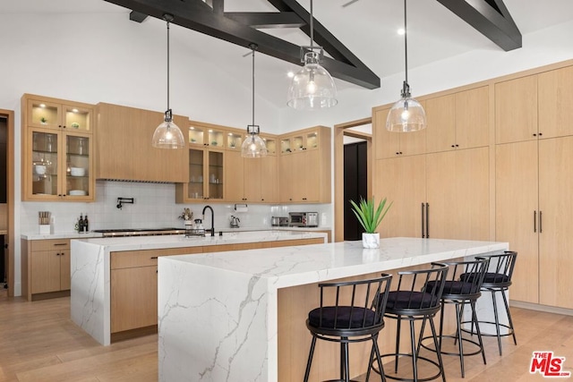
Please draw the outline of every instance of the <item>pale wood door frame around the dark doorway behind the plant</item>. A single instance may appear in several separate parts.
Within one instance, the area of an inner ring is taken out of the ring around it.
[[[334,129],[334,241],[342,242],[345,240],[345,216],[349,215],[345,214],[344,140],[352,137],[365,142],[365,195],[372,195],[372,117],[336,124]]]

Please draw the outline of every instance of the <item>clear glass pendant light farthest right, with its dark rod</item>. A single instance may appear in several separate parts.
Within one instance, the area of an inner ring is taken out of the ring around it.
[[[404,50],[406,58],[406,80],[402,87],[402,98],[392,106],[386,119],[389,132],[417,132],[426,127],[426,114],[422,105],[410,95],[408,85],[408,30],[406,26],[406,0],[404,0]]]

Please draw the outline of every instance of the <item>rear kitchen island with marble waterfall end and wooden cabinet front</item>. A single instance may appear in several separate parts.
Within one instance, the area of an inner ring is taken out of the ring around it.
[[[158,258],[232,250],[240,259],[246,249],[326,242],[326,238],[326,233],[256,231],[213,237],[164,235],[72,240],[72,319],[104,345],[111,344],[115,333],[137,335],[140,328],[147,330],[141,334],[150,333],[157,330]]]

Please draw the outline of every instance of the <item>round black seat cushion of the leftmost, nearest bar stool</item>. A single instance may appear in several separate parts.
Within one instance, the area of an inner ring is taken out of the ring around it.
[[[376,316],[376,312],[370,309],[327,306],[311,310],[308,314],[308,320],[312,327],[356,329],[380,324],[381,318],[379,316],[377,322]]]

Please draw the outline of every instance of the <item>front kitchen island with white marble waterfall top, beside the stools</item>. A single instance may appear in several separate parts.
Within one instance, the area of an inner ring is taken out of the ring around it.
[[[507,242],[390,238],[379,250],[338,242],[250,250],[240,257],[161,258],[159,380],[299,381],[311,339],[306,314],[319,304],[317,283],[508,249]],[[381,343],[388,342],[386,335]],[[312,380],[332,378],[323,369],[338,369],[338,347],[329,345],[317,345]],[[363,350],[365,359],[369,352]],[[351,350],[351,358],[357,353]]]

